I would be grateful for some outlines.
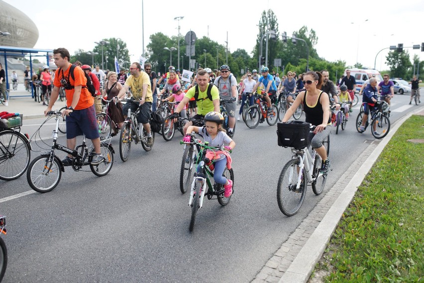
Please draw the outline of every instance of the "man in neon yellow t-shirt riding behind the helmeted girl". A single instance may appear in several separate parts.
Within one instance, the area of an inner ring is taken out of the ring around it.
[[[200,70],[197,73],[196,80],[198,85],[187,91],[183,100],[178,104],[177,109],[175,109],[170,118],[177,118],[184,106],[193,97],[197,100],[198,112],[192,119],[202,120],[205,115],[211,111],[219,112],[219,91],[215,85],[209,83],[208,73],[205,70]],[[187,133],[187,128],[191,125],[192,122],[190,121],[186,123],[184,126],[184,133]],[[200,124],[197,123],[197,126],[200,126]]]

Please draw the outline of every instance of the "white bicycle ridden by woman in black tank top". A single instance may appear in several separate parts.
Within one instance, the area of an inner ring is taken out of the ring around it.
[[[310,126],[310,132],[314,132],[316,126]],[[328,143],[323,145],[329,149]],[[292,145],[292,159],[281,170],[277,185],[277,203],[281,212],[287,216],[295,215],[305,199],[308,185],[316,195],[322,193],[327,174],[320,172],[321,157],[312,149],[308,150],[306,143]],[[328,156],[328,151],[327,151]],[[312,170],[311,170],[312,168]]]

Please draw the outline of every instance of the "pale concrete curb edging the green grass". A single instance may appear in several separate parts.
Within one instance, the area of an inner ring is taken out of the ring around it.
[[[386,144],[392,139],[393,135],[398,131],[402,124],[412,115],[418,114],[421,111],[423,111],[423,107],[410,112],[404,118],[398,120],[387,137],[376,146],[325,214],[311,237],[300,250],[299,254],[296,256],[287,271],[283,274],[280,281],[278,281],[279,283],[306,283],[309,280],[315,269],[315,265],[322,257],[322,254],[324,253],[324,250],[327,247],[331,235],[337,227],[343,212],[355,196],[358,186],[362,183],[366,174],[368,174],[371,170]]]

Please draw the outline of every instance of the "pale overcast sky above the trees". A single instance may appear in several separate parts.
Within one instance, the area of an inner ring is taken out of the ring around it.
[[[5,2],[23,11],[37,25],[39,38],[35,48],[65,47],[73,54],[79,48],[92,50],[94,41],[102,38],[119,37],[127,43],[129,54],[133,54],[131,61],[136,61],[142,53],[141,0]],[[150,34],[177,35],[178,24],[174,17],[184,16],[180,21],[182,35],[191,29],[198,38],[209,35],[225,45],[228,31],[229,50],[242,48],[251,54],[258,33],[256,25],[262,11],[268,8],[276,14],[280,32],[291,35],[303,25],[314,29],[318,35],[318,55],[328,61],[341,59],[353,65],[358,60],[372,68],[379,50],[398,43],[412,46],[424,42],[420,24],[424,14],[423,0],[361,1],[361,5],[355,5],[358,1],[336,0],[291,2],[293,4],[276,0],[145,0],[144,48]],[[181,45],[184,44],[182,41]],[[418,54],[424,60],[421,50],[408,50],[411,59],[413,54]],[[388,50],[384,50],[378,55],[377,69],[387,69],[384,64],[387,53]]]

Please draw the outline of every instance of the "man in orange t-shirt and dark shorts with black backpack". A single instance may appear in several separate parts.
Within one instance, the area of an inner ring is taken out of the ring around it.
[[[100,135],[94,109],[94,99],[87,89],[87,79],[84,71],[79,66],[73,66],[69,62],[70,54],[65,48],[53,50],[54,63],[58,67],[53,82],[51,99],[44,115],[52,110],[52,107],[59,96],[60,87],[65,88],[66,106],[62,116],[66,117],[66,144],[70,149],[75,149],[77,136],[86,135],[93,142],[96,155],[93,156],[91,164],[98,165],[103,161],[100,152]],[[74,68],[74,78],[69,73]],[[68,155],[63,160],[64,166],[72,165],[73,156]]]

